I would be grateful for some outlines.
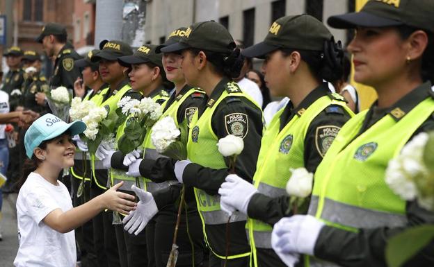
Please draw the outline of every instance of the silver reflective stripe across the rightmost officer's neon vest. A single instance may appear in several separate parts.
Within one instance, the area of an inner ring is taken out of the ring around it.
[[[315,201],[316,206],[318,206],[318,196],[312,196],[311,206]],[[309,214],[315,215],[312,213],[314,211],[316,212],[316,207],[309,209]],[[407,218],[403,214],[363,209],[329,198],[325,198],[321,218],[325,221],[355,228],[400,227],[407,224]]]

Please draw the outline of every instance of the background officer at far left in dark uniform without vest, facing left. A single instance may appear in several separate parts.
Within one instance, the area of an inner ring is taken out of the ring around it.
[[[49,58],[56,58],[54,60],[54,74],[49,79],[51,89],[59,86],[68,89],[74,88],[74,81],[80,76],[80,70],[74,66],[74,60],[79,60],[81,57],[74,50],[74,46],[67,42],[65,26],[48,23],[42,28],[42,32],[35,41],[42,44]]]

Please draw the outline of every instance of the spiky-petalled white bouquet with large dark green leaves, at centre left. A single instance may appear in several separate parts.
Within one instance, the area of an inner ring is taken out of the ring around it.
[[[118,102],[118,124],[124,123],[124,135],[118,140],[118,148],[127,154],[138,148],[146,136],[146,132],[161,117],[161,105],[152,98],[145,97],[140,101],[125,96]]]

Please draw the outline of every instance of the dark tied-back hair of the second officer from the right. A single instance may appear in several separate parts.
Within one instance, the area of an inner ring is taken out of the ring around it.
[[[344,50],[341,41],[335,42],[335,38],[324,42],[324,49],[321,55],[323,58],[320,76],[330,83],[339,80],[344,74]]]

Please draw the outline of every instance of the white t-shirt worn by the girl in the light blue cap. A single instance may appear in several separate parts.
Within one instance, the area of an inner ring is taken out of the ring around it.
[[[17,198],[19,248],[14,266],[76,266],[74,230],[62,234],[42,222],[54,209],[72,209],[65,185],[58,181],[56,186],[38,173],[30,173]]]

